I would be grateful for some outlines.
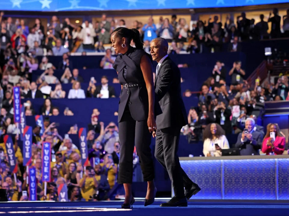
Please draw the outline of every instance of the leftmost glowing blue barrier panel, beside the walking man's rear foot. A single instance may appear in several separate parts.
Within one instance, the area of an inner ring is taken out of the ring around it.
[[[180,161],[188,177],[201,190],[191,199],[222,199],[221,161]]]

